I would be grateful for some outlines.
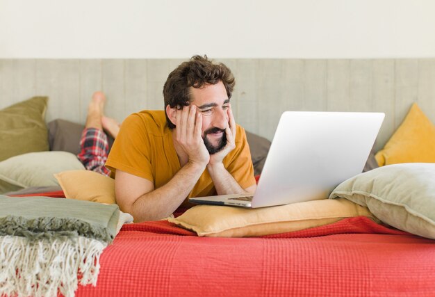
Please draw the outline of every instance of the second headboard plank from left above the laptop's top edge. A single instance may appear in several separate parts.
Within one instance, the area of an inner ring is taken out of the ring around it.
[[[304,111],[327,109],[327,61],[304,61]]]

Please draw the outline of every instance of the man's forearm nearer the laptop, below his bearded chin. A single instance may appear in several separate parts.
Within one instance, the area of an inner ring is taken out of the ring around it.
[[[228,172],[223,163],[207,166],[213,184],[215,184],[217,195],[242,194],[246,191],[236,182],[236,179]]]

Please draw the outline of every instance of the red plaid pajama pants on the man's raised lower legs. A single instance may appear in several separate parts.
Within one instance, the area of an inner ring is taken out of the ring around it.
[[[108,176],[110,170],[104,166],[108,156],[108,140],[104,131],[85,128],[81,134],[80,153],[77,155],[86,170]]]

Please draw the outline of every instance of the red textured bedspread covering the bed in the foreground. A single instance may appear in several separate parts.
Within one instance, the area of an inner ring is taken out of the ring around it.
[[[435,296],[435,241],[362,217],[242,239],[131,224],[77,296]]]

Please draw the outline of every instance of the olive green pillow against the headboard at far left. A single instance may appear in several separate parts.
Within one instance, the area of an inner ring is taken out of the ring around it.
[[[33,97],[0,110],[0,161],[49,150],[47,97]]]

